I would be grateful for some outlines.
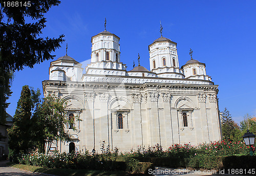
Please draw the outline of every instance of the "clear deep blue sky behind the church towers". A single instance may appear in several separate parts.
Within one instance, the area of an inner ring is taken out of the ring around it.
[[[206,64],[206,73],[219,85],[220,111],[230,111],[236,122],[256,115],[256,1],[62,1],[46,14],[42,37],[65,35],[57,59],[66,54],[78,62],[91,57],[91,37],[106,30],[120,37],[121,61],[132,70],[133,60],[149,68],[148,45],[163,36],[177,42],[179,63],[193,58]],[[39,88],[49,79],[50,61],[15,73],[11,103],[15,114],[23,85]]]

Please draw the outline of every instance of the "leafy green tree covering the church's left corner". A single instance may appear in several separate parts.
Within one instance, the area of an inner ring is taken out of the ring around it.
[[[49,152],[55,141],[68,141],[70,135],[66,133],[65,126],[71,122],[65,115],[64,101],[54,96],[47,96],[37,108],[34,116],[34,129],[36,129],[36,143],[40,152]]]

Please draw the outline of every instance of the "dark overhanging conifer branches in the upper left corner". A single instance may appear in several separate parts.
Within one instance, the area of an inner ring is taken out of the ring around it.
[[[10,73],[22,70],[44,60],[53,59],[51,55],[60,47],[64,35],[58,38],[42,38],[42,29],[46,27],[45,13],[52,6],[58,6],[58,0],[31,0],[30,5],[16,0],[18,6],[8,7],[8,2],[0,1],[0,118],[5,119],[6,100],[10,96]],[[20,4],[21,3],[21,4]],[[34,23],[30,23],[33,21]],[[0,120],[3,121],[3,120]]]

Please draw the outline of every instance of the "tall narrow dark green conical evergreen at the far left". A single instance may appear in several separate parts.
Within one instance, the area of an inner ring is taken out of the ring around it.
[[[29,150],[32,105],[29,86],[24,85],[13,117],[13,126],[8,130],[10,156],[14,161],[19,154]]]

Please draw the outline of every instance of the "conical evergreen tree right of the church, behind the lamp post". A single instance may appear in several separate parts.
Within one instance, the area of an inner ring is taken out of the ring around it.
[[[234,122],[229,111],[225,107],[221,120],[222,135],[224,140],[239,141],[241,131],[239,125]]]

